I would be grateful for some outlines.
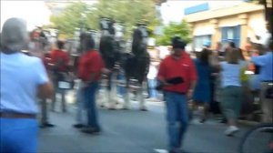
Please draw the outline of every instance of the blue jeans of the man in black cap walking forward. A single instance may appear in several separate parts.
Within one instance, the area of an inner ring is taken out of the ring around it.
[[[187,130],[187,97],[182,94],[168,91],[165,91],[165,97],[167,105],[169,149],[176,150],[181,147],[181,142]]]

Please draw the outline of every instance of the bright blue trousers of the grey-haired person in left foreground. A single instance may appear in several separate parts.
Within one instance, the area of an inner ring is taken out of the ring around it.
[[[29,118],[0,118],[0,153],[37,152],[38,123]]]

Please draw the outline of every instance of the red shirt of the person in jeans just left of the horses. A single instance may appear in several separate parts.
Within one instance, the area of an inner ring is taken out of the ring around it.
[[[83,81],[88,81],[90,74],[96,73],[95,80],[92,81],[98,81],[101,77],[104,66],[102,57],[97,51],[88,51],[79,59],[78,77]]]

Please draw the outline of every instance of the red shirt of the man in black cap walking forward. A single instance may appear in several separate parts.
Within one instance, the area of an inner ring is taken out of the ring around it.
[[[189,55],[183,51],[181,58],[175,59],[173,56],[167,56],[160,64],[157,77],[159,79],[169,79],[173,77],[183,77],[184,83],[170,87],[164,87],[164,90],[186,94],[190,87],[190,82],[197,80],[197,70]]]

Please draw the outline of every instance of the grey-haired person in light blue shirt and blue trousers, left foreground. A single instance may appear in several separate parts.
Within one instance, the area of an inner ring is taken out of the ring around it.
[[[6,20],[0,53],[0,152],[37,151],[35,99],[53,93],[42,60],[21,52],[27,43],[25,21]]]

